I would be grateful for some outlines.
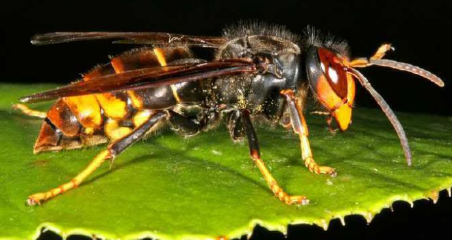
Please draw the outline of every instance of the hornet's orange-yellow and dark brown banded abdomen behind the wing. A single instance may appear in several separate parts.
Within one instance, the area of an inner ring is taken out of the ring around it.
[[[136,69],[201,62],[185,47],[127,51],[84,74],[81,81]],[[125,136],[154,110],[177,104],[199,104],[205,96],[199,82],[185,82],[137,91],[99,93],[58,99],[47,112],[34,152],[73,149]]]

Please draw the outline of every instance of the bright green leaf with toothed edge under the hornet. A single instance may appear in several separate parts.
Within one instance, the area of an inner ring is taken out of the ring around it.
[[[399,139],[379,110],[357,108],[353,125],[331,135],[322,116],[307,115],[318,163],[336,178],[310,173],[299,140],[281,128],[257,128],[262,157],[281,187],[310,198],[288,206],[273,196],[248,156],[225,128],[182,139],[171,131],[137,143],[110,170],[42,206],[27,196],[71,180],[105,147],[32,154],[42,120],[11,110],[19,96],[50,85],[1,84],[0,239],[31,239],[40,228],[60,235],[112,239],[238,237],[255,224],[285,232],[288,224],[327,226],[330,219],[367,219],[396,200],[436,198],[452,186],[452,119],[399,113],[413,152],[407,167]],[[41,110],[47,104],[33,106]]]

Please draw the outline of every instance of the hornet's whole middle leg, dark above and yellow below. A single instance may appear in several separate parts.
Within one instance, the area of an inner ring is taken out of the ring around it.
[[[247,132],[248,144],[249,144],[249,153],[255,165],[258,166],[260,172],[264,176],[265,181],[270,187],[271,191],[275,194],[279,200],[286,202],[286,204],[301,204],[306,205],[309,203],[309,200],[306,199],[305,196],[297,195],[292,196],[288,195],[281,187],[279,187],[275,178],[271,176],[270,171],[265,167],[264,161],[260,158],[260,149],[258,143],[258,136],[253,129],[253,125],[251,123],[251,119],[249,118],[249,111],[242,110],[242,119],[244,123],[245,131]]]

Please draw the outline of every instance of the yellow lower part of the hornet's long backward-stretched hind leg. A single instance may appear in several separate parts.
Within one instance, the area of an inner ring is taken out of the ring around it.
[[[50,198],[55,197],[56,195],[60,195],[65,191],[76,188],[77,186],[79,186],[79,184],[81,184],[81,182],[88,178],[88,176],[90,176],[92,172],[99,168],[102,165],[102,163],[105,162],[105,160],[107,160],[110,157],[111,157],[110,152],[108,150],[102,151],[91,161],[91,163],[83,171],[81,171],[81,173],[75,176],[75,178],[73,178],[71,181],[61,184],[60,187],[56,187],[55,189],[51,189],[45,193],[35,193],[29,196],[27,204],[29,205],[41,204],[42,202],[45,202],[46,200],[49,200]]]

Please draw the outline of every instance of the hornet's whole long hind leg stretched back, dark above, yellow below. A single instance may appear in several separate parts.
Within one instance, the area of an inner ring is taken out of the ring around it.
[[[86,178],[88,178],[88,176],[90,176],[90,174],[93,173],[98,167],[100,167],[105,160],[115,158],[118,154],[121,154],[121,152],[123,152],[127,147],[138,141],[138,139],[141,139],[142,136],[145,136],[145,134],[153,127],[153,125],[155,125],[155,123],[158,123],[158,121],[166,119],[167,117],[166,112],[155,112],[155,114],[151,115],[149,119],[142,123],[142,125],[138,126],[138,128],[135,128],[129,134],[108,145],[106,150],[103,150],[100,154],[98,154],[91,161],[91,163],[71,181],[61,184],[60,187],[56,187],[55,189],[51,189],[45,193],[36,193],[29,196],[27,204],[41,204],[42,202],[49,200],[51,197],[55,197],[65,191],[74,189]]]

